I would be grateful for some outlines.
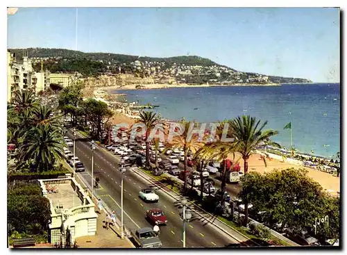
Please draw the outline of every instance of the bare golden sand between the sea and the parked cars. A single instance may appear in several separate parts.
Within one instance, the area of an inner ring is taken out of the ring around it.
[[[129,125],[132,125],[135,122],[136,120],[131,119],[130,117],[121,115],[120,113],[116,113],[115,116],[112,117],[113,124],[127,123]],[[228,158],[232,160],[232,155],[230,155]],[[235,161],[237,160],[239,160],[239,165],[242,167],[242,170],[243,170],[244,161],[242,160],[239,154],[237,154],[235,157]],[[296,169],[302,168],[307,170],[308,171],[307,175],[310,176],[315,181],[319,182],[324,190],[330,190],[330,193],[332,195],[337,195],[337,192],[340,192],[340,178],[337,176],[333,176],[332,174],[321,172],[319,170],[314,170],[308,167],[301,167],[291,163],[284,163],[275,158],[271,158],[270,160],[267,160],[266,162],[267,162],[267,166],[265,167],[264,161],[262,161],[262,158],[260,158],[260,155],[253,154],[248,160],[248,171],[264,173],[264,172],[272,171],[274,169],[286,169],[290,167],[294,167]]]

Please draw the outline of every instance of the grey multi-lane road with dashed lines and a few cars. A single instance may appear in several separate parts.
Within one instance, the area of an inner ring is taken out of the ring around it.
[[[72,138],[72,135],[68,135]],[[81,173],[88,183],[91,183],[91,158],[92,150],[90,142],[85,139],[76,139],[76,156],[85,165],[86,171]],[[96,149],[94,151],[94,179],[99,176],[100,188],[95,190],[95,194],[111,210],[115,210],[120,217],[120,197],[121,197],[121,174],[118,170],[118,160],[112,154]],[[167,215],[167,226],[160,227],[160,240],[163,247],[182,247],[183,222],[179,217],[179,202],[168,197],[162,190],[156,190],[160,196],[160,201],[155,204],[146,204],[139,199],[139,190],[148,188],[149,183],[139,178],[134,172],[126,172],[124,176],[124,224],[135,231],[139,227],[152,227],[146,221],[145,214],[149,208],[158,207]],[[193,213],[192,221],[186,228],[187,247],[225,247],[237,240],[230,238],[212,224],[207,224],[205,219]]]

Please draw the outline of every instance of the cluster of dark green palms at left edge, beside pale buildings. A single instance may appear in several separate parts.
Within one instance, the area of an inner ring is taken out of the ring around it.
[[[8,104],[8,143],[17,151],[17,170],[53,170],[64,158],[63,126],[53,108],[40,104],[33,90],[16,90]]]

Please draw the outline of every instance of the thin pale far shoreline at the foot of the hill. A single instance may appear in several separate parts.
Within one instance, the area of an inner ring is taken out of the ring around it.
[[[266,83],[266,84],[249,84],[249,83],[235,83],[232,85],[223,85],[223,84],[169,84],[169,83],[156,83],[156,84],[141,84],[142,88],[136,88],[138,84],[133,85],[124,85],[124,86],[107,86],[99,88],[100,90],[104,90],[105,92],[109,92],[110,90],[153,90],[153,89],[162,89],[162,88],[209,88],[209,87],[239,87],[239,86],[280,86],[279,83]]]

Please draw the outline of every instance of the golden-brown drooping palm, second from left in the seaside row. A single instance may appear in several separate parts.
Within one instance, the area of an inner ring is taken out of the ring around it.
[[[195,153],[200,149],[200,147],[203,146],[203,142],[201,142],[198,139],[198,135],[192,135],[189,132],[189,126],[192,124],[196,126],[198,123],[197,122],[186,122],[184,119],[180,121],[180,124],[182,125],[182,129],[184,129],[182,135],[176,135],[172,139],[172,141],[169,141],[167,144],[167,147],[165,148],[165,151],[167,149],[176,149],[176,148],[182,148],[185,154],[185,163],[184,163],[184,172],[183,172],[183,192],[186,191],[187,188],[187,157],[188,157],[188,152],[192,151],[192,153]],[[190,138],[190,139],[189,139]]]

